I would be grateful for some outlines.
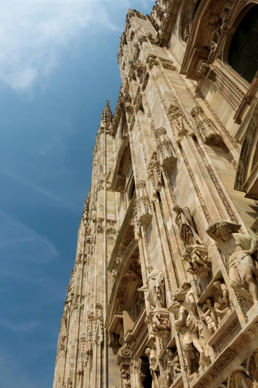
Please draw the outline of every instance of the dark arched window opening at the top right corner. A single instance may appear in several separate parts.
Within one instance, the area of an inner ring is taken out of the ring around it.
[[[258,70],[258,5],[243,17],[229,48],[230,66],[245,80],[252,82]]]

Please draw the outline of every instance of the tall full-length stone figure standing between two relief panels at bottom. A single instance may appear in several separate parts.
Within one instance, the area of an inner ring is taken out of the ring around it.
[[[188,364],[188,378],[195,379],[210,364],[202,324],[197,314],[191,283],[184,280],[173,295],[169,310],[175,315],[175,330],[183,337],[183,355]]]

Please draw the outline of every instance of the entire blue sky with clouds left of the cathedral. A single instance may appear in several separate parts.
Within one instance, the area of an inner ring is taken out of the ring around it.
[[[128,8],[0,0],[0,387],[49,388],[101,112]]]

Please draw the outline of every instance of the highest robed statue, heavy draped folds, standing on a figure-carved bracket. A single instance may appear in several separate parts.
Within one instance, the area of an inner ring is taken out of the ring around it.
[[[179,236],[184,244],[193,245],[194,243],[202,244],[200,237],[194,230],[194,224],[190,210],[187,206],[179,208],[173,207],[173,211],[177,214],[175,223],[179,230]]]

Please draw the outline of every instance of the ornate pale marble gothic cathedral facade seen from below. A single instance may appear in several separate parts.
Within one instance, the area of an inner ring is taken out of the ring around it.
[[[258,387],[258,0],[129,9],[54,388]]]

